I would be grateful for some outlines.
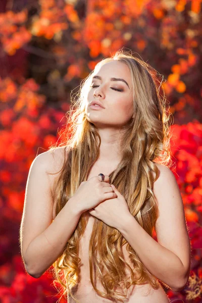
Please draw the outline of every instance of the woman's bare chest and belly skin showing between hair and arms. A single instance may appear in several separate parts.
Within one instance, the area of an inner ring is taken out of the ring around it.
[[[109,175],[115,168],[117,164],[103,164],[96,162],[89,173],[88,179],[93,176],[97,176],[99,173],[104,175]],[[87,180],[88,180],[87,179]],[[80,262],[80,282],[72,289],[72,293],[79,300],[80,303],[111,303],[112,300],[105,299],[101,296],[98,296],[94,291],[91,282],[90,282],[90,273],[88,265],[88,247],[90,235],[92,232],[92,226],[94,222],[94,217],[91,216],[88,212],[84,213],[86,216],[87,225],[83,236],[80,239],[79,243],[79,257],[81,258]],[[123,255],[126,262],[128,262],[132,268],[132,264],[128,257],[128,252],[126,250],[126,244],[123,245]],[[130,275],[129,270],[126,268],[126,273]],[[104,291],[102,284],[97,281],[96,287]],[[117,289],[119,291],[119,289]],[[120,289],[121,291],[121,289]],[[123,291],[122,291],[123,292]],[[129,299],[125,299],[124,303],[169,303],[170,300],[166,295],[166,292],[159,284],[158,289],[153,289],[149,284],[141,285],[132,285],[131,289],[128,290]],[[75,303],[75,300],[68,295],[68,303]]]

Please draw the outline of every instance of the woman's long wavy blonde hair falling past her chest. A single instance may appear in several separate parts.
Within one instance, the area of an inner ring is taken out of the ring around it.
[[[152,236],[159,216],[153,193],[153,184],[159,174],[155,163],[169,166],[171,161],[170,113],[166,109],[165,94],[160,95],[162,82],[156,77],[158,73],[155,69],[122,49],[111,58],[100,61],[95,69],[112,60],[123,62],[130,70],[134,118],[131,118],[123,127],[125,135],[121,140],[122,160],[109,177],[111,183],[126,199],[132,216]],[[64,156],[64,165],[52,192],[56,203],[56,215],[68,203],[80,183],[87,180],[90,168],[99,157],[100,136],[93,123],[85,117],[86,96],[93,72],[94,70],[81,82],[73,106],[70,107],[65,140],[60,144],[66,146],[68,156],[67,159],[66,154]],[[54,148],[56,147],[51,147],[51,149]],[[81,261],[78,257],[79,239],[84,233],[85,226],[85,218],[81,215],[62,255],[53,264],[56,281],[64,287],[63,294],[70,293],[78,303],[71,289],[79,282]],[[123,300],[119,296],[120,292],[115,291],[115,288],[120,287],[121,284],[124,284],[122,289],[141,283],[149,283],[155,289],[159,287],[157,278],[148,275],[146,268],[129,243],[126,248],[133,269],[125,262],[122,252],[122,246],[125,243],[127,241],[117,229],[94,218],[89,242],[91,284],[100,296],[121,302]],[[100,257],[99,262],[97,255]],[[93,264],[96,270],[94,274],[102,281],[105,292],[98,290],[95,286]],[[131,272],[130,281],[126,281],[126,266]],[[127,291],[123,297],[127,297]]]

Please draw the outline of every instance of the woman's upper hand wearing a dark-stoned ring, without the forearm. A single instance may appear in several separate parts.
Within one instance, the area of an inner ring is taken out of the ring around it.
[[[104,181],[102,181],[101,176],[94,176],[87,181],[81,182],[72,196],[81,212],[94,208],[104,200],[117,197],[109,182],[110,178],[108,175],[105,175]]]

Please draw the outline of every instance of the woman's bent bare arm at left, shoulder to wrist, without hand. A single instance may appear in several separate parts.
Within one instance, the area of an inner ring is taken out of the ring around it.
[[[59,159],[61,151],[54,153]],[[53,221],[51,179],[46,170],[51,173],[60,170],[49,151],[38,155],[30,167],[20,228],[22,259],[27,272],[35,278],[62,254],[82,214],[74,208],[71,198]]]

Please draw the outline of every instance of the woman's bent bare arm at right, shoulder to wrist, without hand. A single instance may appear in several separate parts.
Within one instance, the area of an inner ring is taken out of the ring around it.
[[[119,231],[137,252],[148,271],[174,291],[182,290],[190,273],[190,240],[183,202],[175,176],[159,165],[154,183],[160,215],[156,222],[158,242],[150,237],[133,216],[124,220]]]

